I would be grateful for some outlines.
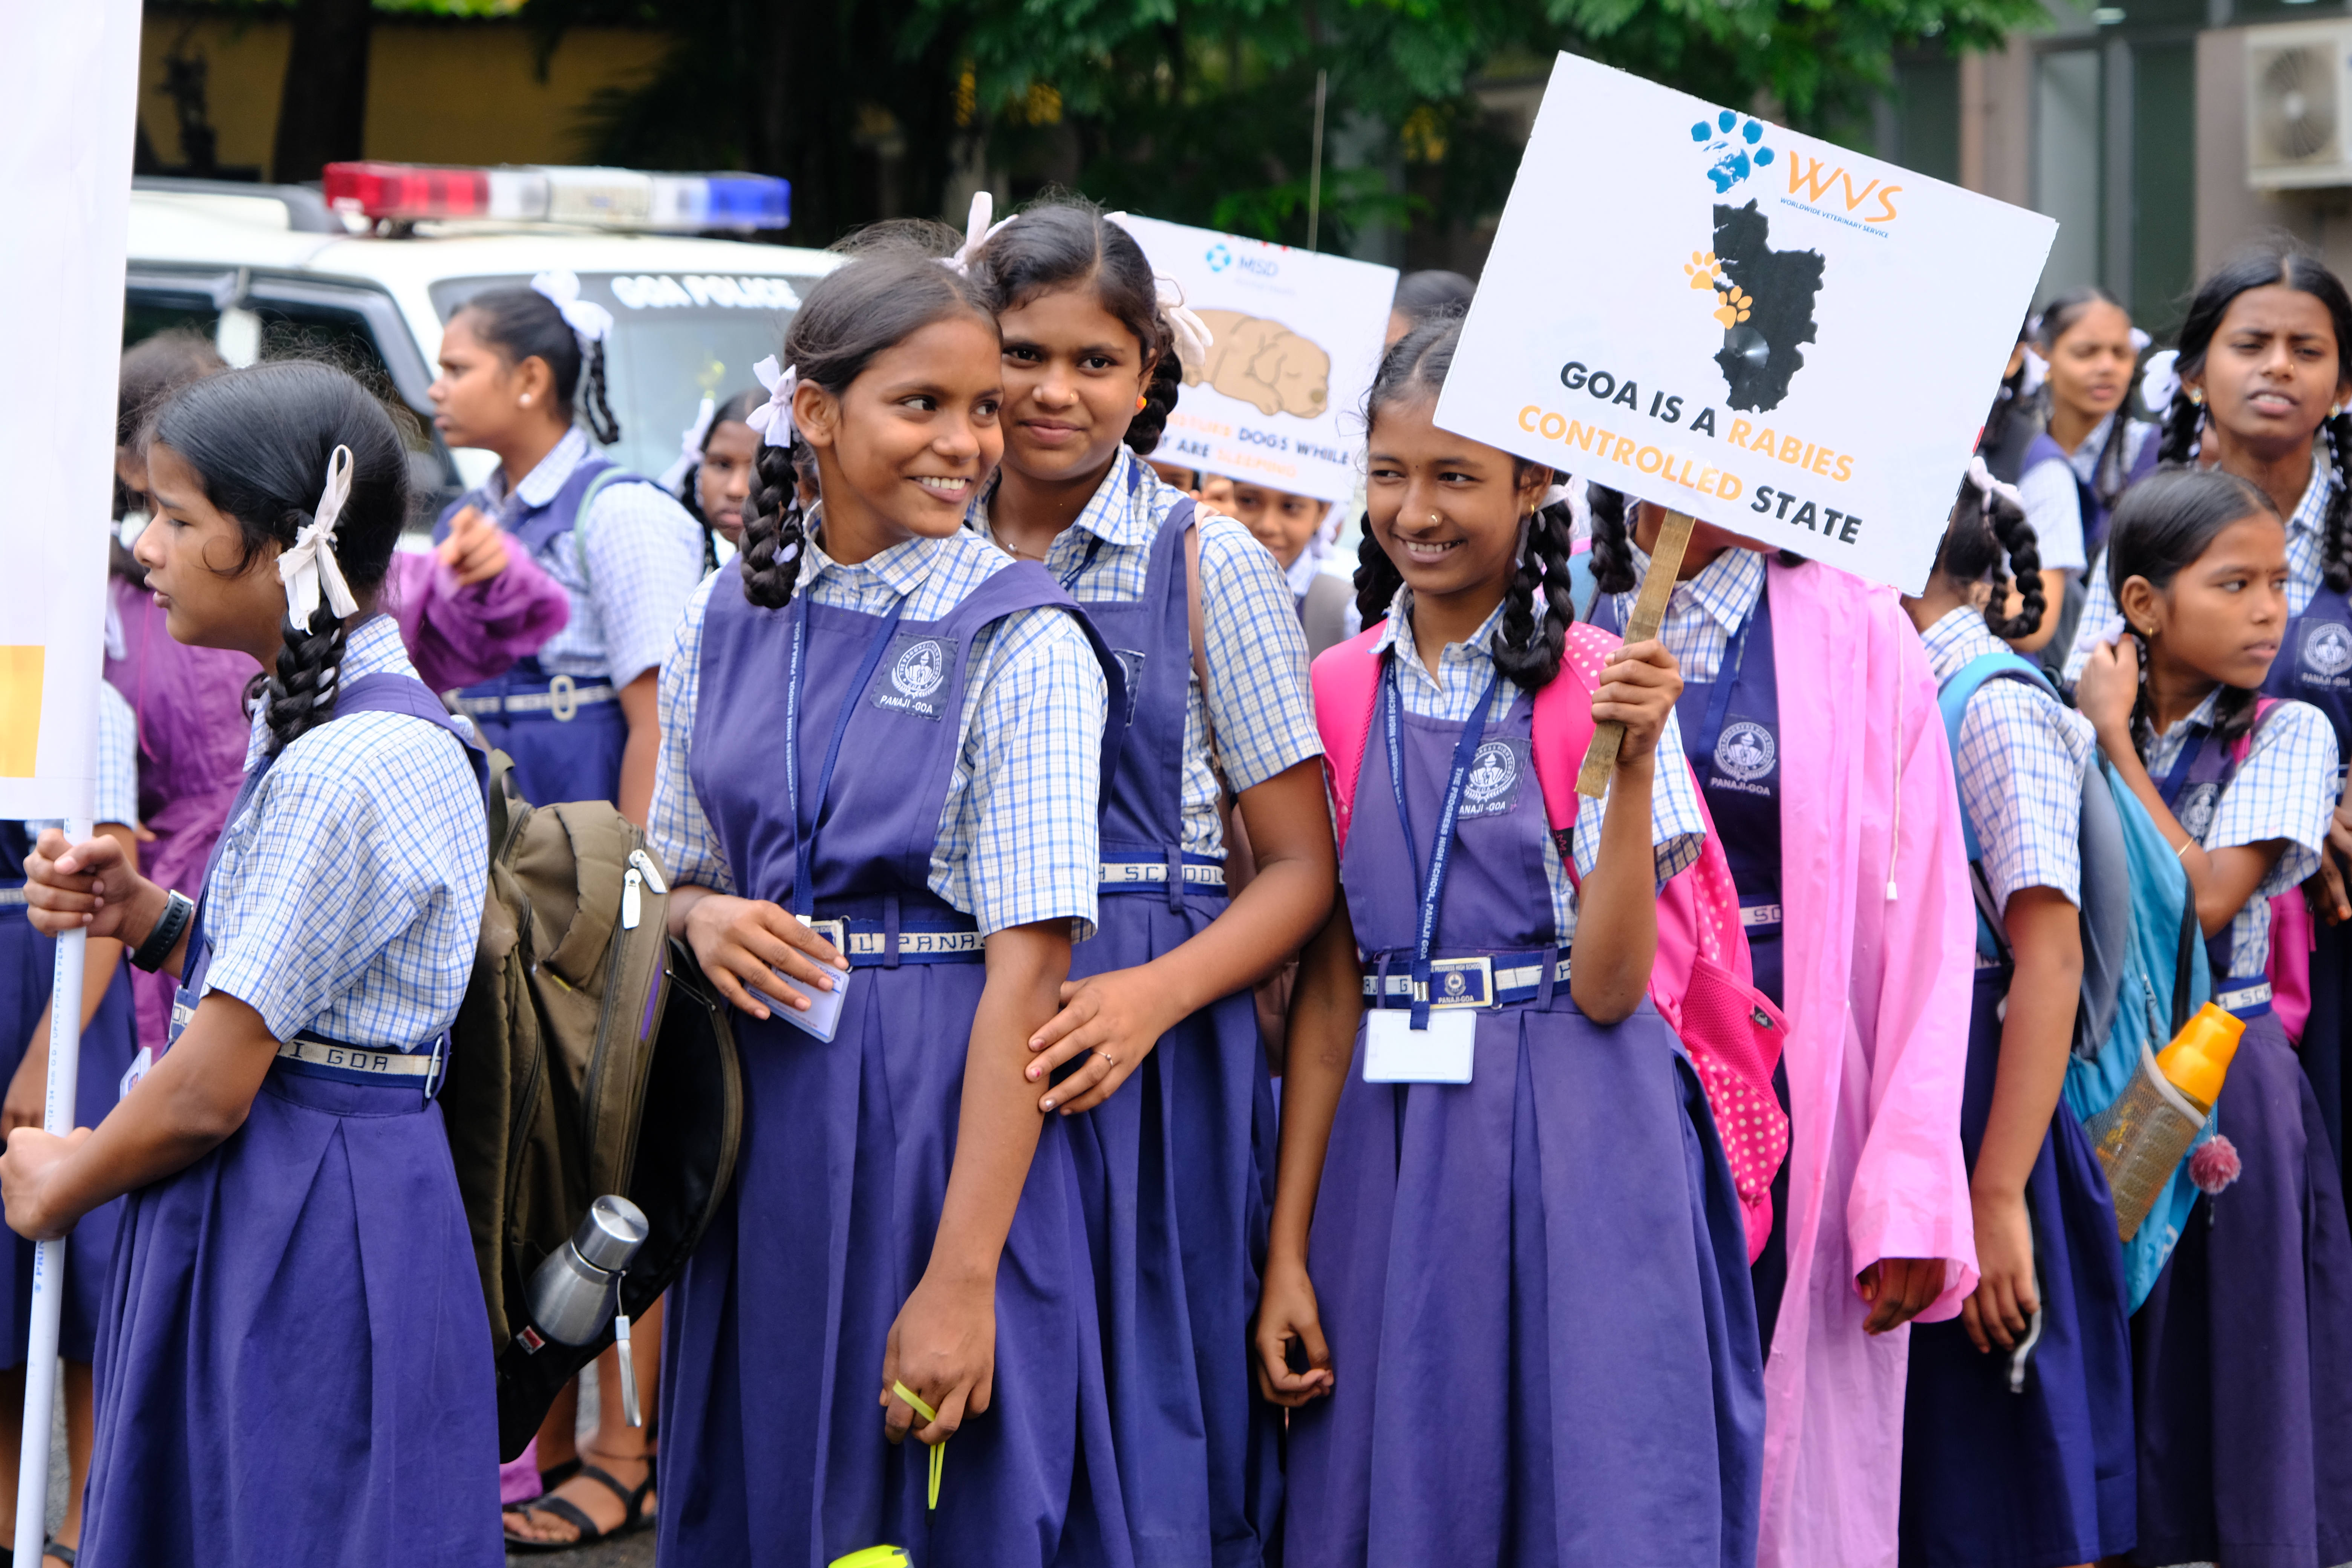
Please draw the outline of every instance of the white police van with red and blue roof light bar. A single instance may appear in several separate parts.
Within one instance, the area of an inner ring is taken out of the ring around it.
[[[786,181],[633,169],[329,165],[322,188],[136,179],[122,341],[214,339],[230,364],[327,355],[414,411],[419,503],[496,468],[433,430],[440,334],[480,289],[572,270],[614,315],[607,456],[659,475],[701,400],[757,386],[826,252],[710,237],[788,221]],[[407,423],[407,421],[402,421]]]

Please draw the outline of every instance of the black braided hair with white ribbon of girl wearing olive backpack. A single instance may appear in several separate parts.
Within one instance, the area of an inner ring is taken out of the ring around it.
[[[292,545],[313,522],[327,463],[350,447],[350,498],[334,524],[334,559],[362,614],[383,585],[393,545],[409,517],[409,458],[393,425],[348,374],[315,360],[275,360],[191,381],[153,411],[146,447],[169,447],[205,498],[238,520],[245,555],[228,576],[268,569],[268,545]],[[343,623],[325,607],[313,625],[282,625],[278,668],[259,696],[270,752],[334,717],[343,668]]]

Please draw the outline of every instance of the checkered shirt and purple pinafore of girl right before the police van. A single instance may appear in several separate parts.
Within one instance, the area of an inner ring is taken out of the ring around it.
[[[572,618],[539,654],[466,686],[459,708],[515,759],[524,799],[619,799],[621,691],[670,651],[703,578],[701,529],[659,484],[595,456],[579,428],[513,489],[501,470],[442,508],[435,543],[468,505],[562,585]]]

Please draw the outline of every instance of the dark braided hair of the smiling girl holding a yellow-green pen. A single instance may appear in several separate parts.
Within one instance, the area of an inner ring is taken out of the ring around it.
[[[800,313],[783,331],[781,360],[800,381],[840,397],[877,355],[960,315],[978,317],[988,331],[997,329],[981,289],[943,268],[938,256],[870,244],[809,284]],[[809,538],[809,522],[800,510],[802,454],[814,458],[814,447],[797,430],[788,447],[762,442],[750,496],[743,501],[743,597],[762,609],[790,604],[800,581],[800,552]]]

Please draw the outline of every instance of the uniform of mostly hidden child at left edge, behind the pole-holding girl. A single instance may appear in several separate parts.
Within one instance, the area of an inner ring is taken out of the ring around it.
[[[99,684],[99,778],[92,799],[92,823],[139,823],[139,736],[129,703]],[[40,1011],[56,985],[56,938],[33,931],[24,903],[24,863],[45,827],[64,823],[0,823],[0,1074],[14,1077],[26,1053],[49,1056],[47,1032],[35,1032]],[[71,1006],[80,1006],[80,997]],[[132,1018],[129,964],[115,961],[106,999],[82,1025],[80,1070],[73,1093],[73,1126],[96,1126],[113,1103],[122,1074],[139,1051]],[[0,1079],[7,1081],[7,1079]],[[66,1265],[66,1300],[59,1316],[59,1354],[89,1361],[99,1340],[99,1314],[106,1300],[106,1265],[115,1251],[115,1222],[122,1201],[101,1204],[73,1227]],[[24,1366],[33,1331],[33,1244],[7,1237],[0,1248],[0,1366]]]

